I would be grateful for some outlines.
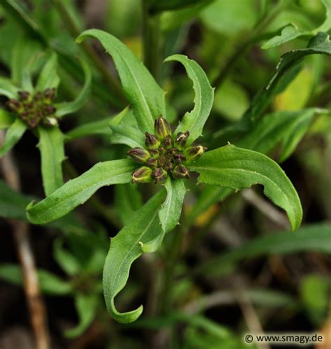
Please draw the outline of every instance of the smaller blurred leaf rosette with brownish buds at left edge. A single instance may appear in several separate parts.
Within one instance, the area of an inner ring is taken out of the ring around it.
[[[21,44],[24,45],[24,43]],[[39,139],[41,173],[46,196],[52,194],[64,183],[61,163],[65,158],[66,136],[59,128],[59,121],[64,115],[75,113],[82,107],[91,84],[89,66],[82,62],[84,87],[74,101],[57,102],[60,83],[57,74],[57,55],[52,52],[49,56],[38,73],[36,85],[32,82],[34,75],[32,66],[38,66],[38,59],[45,57],[36,52],[31,52],[29,62],[20,62],[20,57],[14,55],[13,79],[0,77],[0,95],[8,98],[5,104],[6,109],[0,109],[0,129],[7,130],[3,144],[0,145],[0,157],[20,141],[25,131],[31,131]],[[17,64],[17,61],[20,64]]]

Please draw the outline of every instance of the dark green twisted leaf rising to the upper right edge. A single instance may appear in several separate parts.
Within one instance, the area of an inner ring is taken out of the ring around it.
[[[244,114],[244,120],[256,122],[270,105],[274,97],[282,92],[293,80],[298,71],[298,64],[307,55],[331,55],[331,42],[328,34],[318,33],[311,38],[307,48],[292,50],[281,56],[274,75],[269,83],[254,97],[251,106]],[[300,68],[300,67],[299,67]]]

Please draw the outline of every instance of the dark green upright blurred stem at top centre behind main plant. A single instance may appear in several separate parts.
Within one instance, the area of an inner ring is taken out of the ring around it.
[[[150,0],[142,0],[144,63],[157,82],[161,78],[161,28],[159,15],[149,13]]]

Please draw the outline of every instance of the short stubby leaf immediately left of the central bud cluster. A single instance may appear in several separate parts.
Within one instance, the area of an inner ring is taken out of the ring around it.
[[[126,124],[110,125],[112,134],[110,141],[113,144],[126,144],[131,148],[145,148],[145,135],[136,127]]]

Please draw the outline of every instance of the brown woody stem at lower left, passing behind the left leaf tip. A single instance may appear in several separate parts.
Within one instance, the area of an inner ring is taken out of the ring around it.
[[[3,132],[0,133],[0,143],[3,141]],[[20,191],[20,174],[10,153],[1,159],[3,177],[13,190]],[[25,296],[34,330],[37,349],[50,348],[50,335],[47,327],[45,304],[41,296],[34,253],[29,241],[29,225],[27,222],[9,220],[13,228],[13,237],[18,258],[22,266],[23,285]]]

